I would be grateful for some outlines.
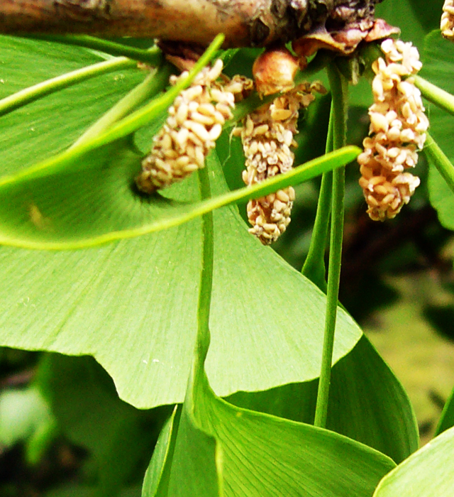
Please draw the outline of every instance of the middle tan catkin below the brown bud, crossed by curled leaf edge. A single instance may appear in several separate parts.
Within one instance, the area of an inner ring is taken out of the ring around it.
[[[292,169],[296,146],[298,111],[314,100],[314,92],[325,92],[322,84],[299,84],[271,104],[265,104],[249,114],[238,129],[243,141],[245,166],[243,181],[246,185],[262,182]],[[285,231],[295,198],[292,187],[248,202],[248,219],[253,226],[249,232],[271,244]]]

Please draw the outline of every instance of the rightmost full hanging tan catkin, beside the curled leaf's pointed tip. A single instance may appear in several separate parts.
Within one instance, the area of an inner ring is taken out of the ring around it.
[[[411,77],[421,69],[418,50],[391,38],[381,48],[384,58],[372,64],[370,136],[358,156],[367,213],[375,221],[396,216],[419,185],[419,178],[406,170],[416,165],[428,128],[421,92]]]

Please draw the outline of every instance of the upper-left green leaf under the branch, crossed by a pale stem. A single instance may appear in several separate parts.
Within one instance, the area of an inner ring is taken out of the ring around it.
[[[101,60],[84,48],[0,36],[0,98]],[[144,77],[137,69],[111,72],[2,116],[1,175],[17,173],[70,146]]]

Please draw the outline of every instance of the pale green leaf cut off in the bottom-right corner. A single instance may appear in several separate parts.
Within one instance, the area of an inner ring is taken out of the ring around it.
[[[447,497],[453,488],[454,428],[450,428],[385,476],[374,497]]]

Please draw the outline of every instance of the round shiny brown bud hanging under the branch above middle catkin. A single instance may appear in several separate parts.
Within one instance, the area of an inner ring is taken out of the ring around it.
[[[260,95],[270,95],[292,89],[298,67],[298,59],[287,48],[265,50],[253,65],[257,91]]]

